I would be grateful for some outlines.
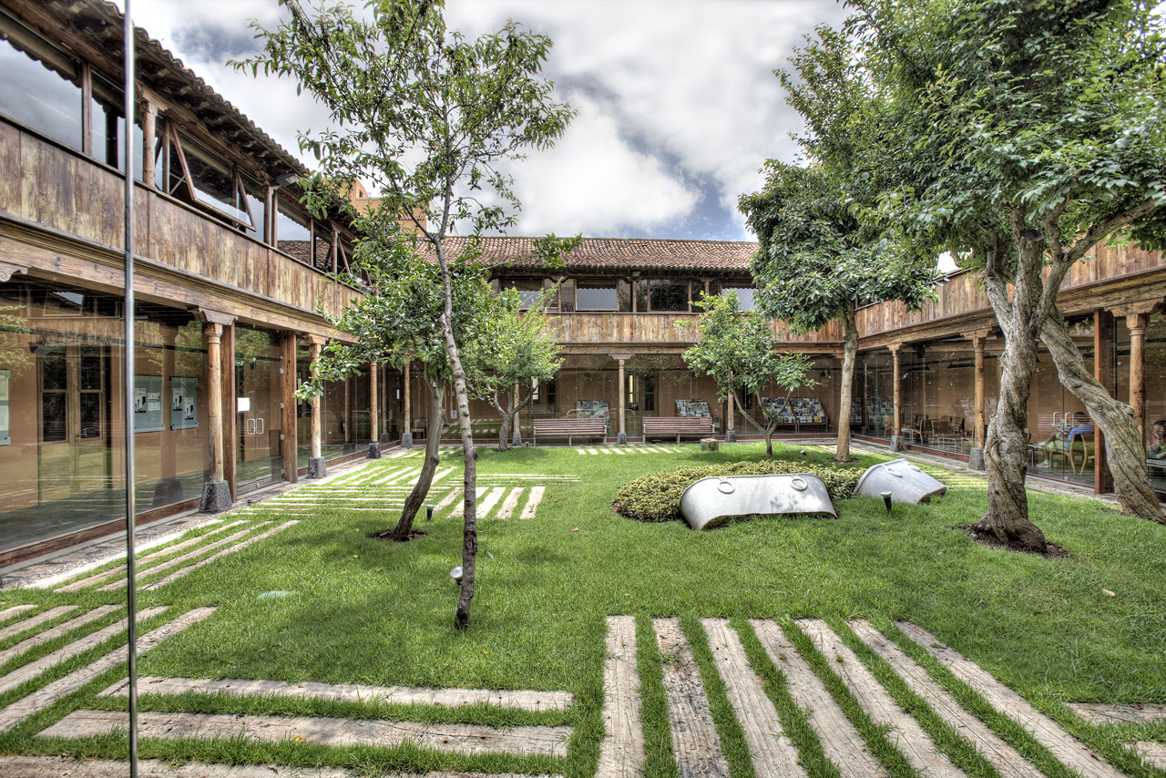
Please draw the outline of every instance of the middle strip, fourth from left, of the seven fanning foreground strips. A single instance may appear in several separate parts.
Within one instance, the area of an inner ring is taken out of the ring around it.
[[[799,708],[807,712],[806,717],[817,734],[826,758],[845,778],[886,778],[886,771],[866,750],[862,735],[814,674],[809,663],[786,639],[781,628],[770,619],[754,618],[750,624],[770,660],[785,675],[789,695]]]

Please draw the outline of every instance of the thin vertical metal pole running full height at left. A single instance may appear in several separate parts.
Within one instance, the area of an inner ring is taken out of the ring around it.
[[[122,21],[125,47],[125,105],[126,114],[126,352],[125,352],[125,420],[126,420],[126,611],[129,625],[129,778],[138,778],[138,603],[136,565],[134,560],[134,22],[129,16],[129,0],[125,0]],[[145,149],[142,152],[146,153]]]

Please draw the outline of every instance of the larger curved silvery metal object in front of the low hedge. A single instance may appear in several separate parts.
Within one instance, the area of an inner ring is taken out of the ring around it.
[[[827,513],[838,518],[826,484],[808,472],[701,478],[680,497],[694,530],[711,530],[738,516]]]

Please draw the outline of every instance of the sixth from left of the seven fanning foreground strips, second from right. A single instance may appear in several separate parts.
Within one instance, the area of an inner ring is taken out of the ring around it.
[[[988,726],[965,712],[927,671],[864,621],[849,622],[858,639],[881,657],[895,674],[930,706],[961,737],[969,741],[982,757],[992,763],[1004,778],[1042,778],[1042,773],[1014,748],[1005,743]]]

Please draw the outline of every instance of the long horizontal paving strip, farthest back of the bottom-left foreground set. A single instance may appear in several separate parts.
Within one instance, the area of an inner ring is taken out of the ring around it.
[[[124,696],[128,679],[114,684],[99,696]],[[230,696],[278,696],[304,698],[311,700],[343,700],[346,702],[391,702],[393,705],[434,705],[443,708],[461,708],[469,705],[489,705],[519,710],[566,710],[575,702],[568,692],[532,692],[528,689],[426,689],[409,686],[363,686],[359,684],[321,684],[317,681],[250,681],[239,679],[201,680],[190,678],[157,678],[142,675],[138,679],[139,694],[226,694]]]

